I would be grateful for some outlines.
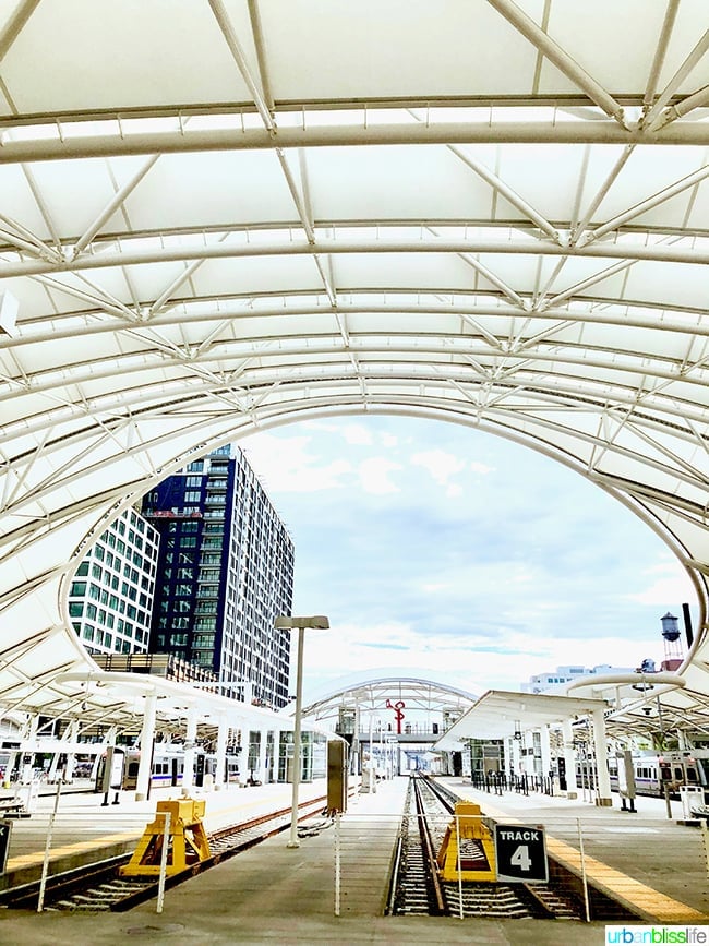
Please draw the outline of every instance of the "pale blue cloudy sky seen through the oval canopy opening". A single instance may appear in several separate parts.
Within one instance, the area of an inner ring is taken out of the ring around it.
[[[636,516],[501,438],[361,417],[241,446],[296,543],[293,613],[331,621],[309,632],[307,695],[390,666],[477,694],[561,664],[637,667],[662,659],[662,614],[683,627],[694,602]]]

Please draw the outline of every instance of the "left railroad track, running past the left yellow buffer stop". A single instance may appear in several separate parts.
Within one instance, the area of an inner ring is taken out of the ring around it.
[[[326,797],[312,799],[299,805],[301,817],[310,817],[323,810]],[[214,831],[208,836],[211,857],[190,865],[185,871],[166,878],[165,887],[180,884],[219,862],[245,851],[272,835],[290,827],[291,809],[281,809]],[[48,878],[44,909],[47,911],[100,912],[130,910],[157,896],[157,877],[121,877],[119,869],[128,863],[130,854],[87,864]],[[5,891],[0,905],[9,908],[34,909],[39,896],[39,882],[33,882]]]

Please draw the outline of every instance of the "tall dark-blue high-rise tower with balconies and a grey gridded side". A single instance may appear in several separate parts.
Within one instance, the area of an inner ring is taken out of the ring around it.
[[[247,458],[220,447],[144,496],[160,534],[151,650],[211,668],[224,692],[288,702],[293,544]]]

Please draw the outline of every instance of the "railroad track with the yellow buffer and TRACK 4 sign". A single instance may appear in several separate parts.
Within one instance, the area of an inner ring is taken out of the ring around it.
[[[412,777],[388,912],[395,915],[489,917],[580,920],[580,906],[554,885],[442,882],[436,853],[457,795],[436,782]],[[481,849],[481,857],[484,853]]]

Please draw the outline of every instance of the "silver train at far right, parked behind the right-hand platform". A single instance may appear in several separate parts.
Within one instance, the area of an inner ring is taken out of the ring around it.
[[[632,756],[635,791],[640,795],[663,798],[668,789],[671,798],[678,798],[683,786],[704,789],[709,802],[709,750],[690,752],[634,753]],[[608,759],[611,790],[618,791],[618,759]],[[596,766],[590,761],[577,761],[576,783],[582,789],[596,788]]]

